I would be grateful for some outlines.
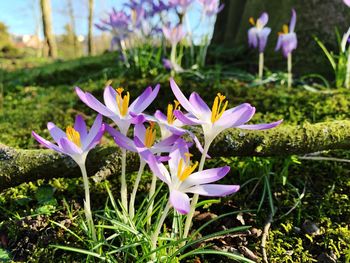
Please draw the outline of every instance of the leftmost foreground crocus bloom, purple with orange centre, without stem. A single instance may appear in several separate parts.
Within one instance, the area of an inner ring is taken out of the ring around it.
[[[54,144],[32,131],[32,135],[41,145],[56,152],[69,155],[78,164],[83,165],[89,151],[100,141],[104,133],[102,115],[97,115],[90,131],[87,131],[85,121],[82,116],[77,115],[73,127],[68,127],[66,132],[62,131],[52,122],[47,124],[47,128],[57,144]]]

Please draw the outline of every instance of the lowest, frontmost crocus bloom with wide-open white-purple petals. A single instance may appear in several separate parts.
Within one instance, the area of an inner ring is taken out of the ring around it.
[[[194,172],[198,162],[191,164],[191,154],[185,141],[179,139],[169,154],[169,170],[152,152],[135,141],[141,157],[148,163],[152,172],[169,187],[170,203],[176,211],[187,214],[190,211],[190,198],[187,193],[204,196],[226,196],[239,190],[239,185],[212,184],[223,178],[229,171],[229,166]]]

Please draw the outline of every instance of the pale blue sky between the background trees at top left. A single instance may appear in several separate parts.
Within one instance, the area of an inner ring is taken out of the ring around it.
[[[76,32],[78,35],[87,34],[87,6],[88,0],[72,0],[76,18]],[[127,0],[95,0],[94,22],[105,16],[112,8],[120,9]],[[55,34],[64,33],[64,25],[68,24],[67,0],[51,0],[53,30]],[[193,10],[190,23],[195,24],[200,19],[198,10]],[[14,35],[35,34],[39,26],[42,36],[41,13],[39,0],[0,0],[0,22],[8,26],[9,32]],[[199,28],[201,31],[202,29]],[[94,34],[99,34],[94,30]]]

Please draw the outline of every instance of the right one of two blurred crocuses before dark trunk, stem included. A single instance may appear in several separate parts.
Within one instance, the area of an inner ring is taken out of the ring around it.
[[[297,14],[292,9],[292,18],[288,25],[283,25],[282,32],[278,33],[276,51],[282,49],[283,55],[287,58],[288,68],[288,88],[292,86],[292,52],[297,48],[298,40],[294,32],[297,21]]]

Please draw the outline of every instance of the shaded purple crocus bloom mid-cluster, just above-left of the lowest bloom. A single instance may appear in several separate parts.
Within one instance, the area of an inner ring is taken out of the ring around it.
[[[153,154],[169,152],[175,143],[179,139],[179,135],[171,135],[168,138],[156,142],[156,130],[154,127],[154,122],[150,122],[150,126],[145,128],[143,124],[136,124],[134,127],[134,138],[137,138],[143,145],[147,147]],[[115,143],[121,148],[124,148],[131,152],[138,152],[137,146],[135,145],[134,140],[126,137],[121,134],[119,131],[113,129],[111,126],[106,125],[106,131],[113,137]],[[159,160],[168,160],[168,158],[159,158]]]

